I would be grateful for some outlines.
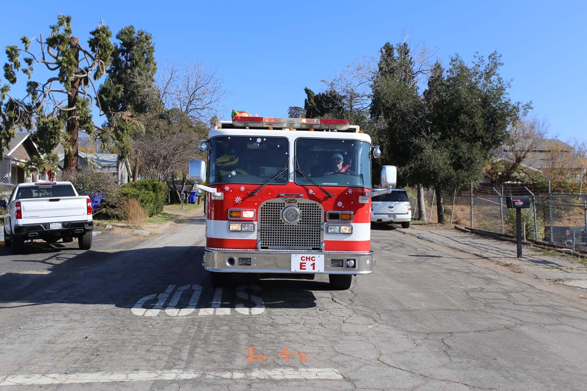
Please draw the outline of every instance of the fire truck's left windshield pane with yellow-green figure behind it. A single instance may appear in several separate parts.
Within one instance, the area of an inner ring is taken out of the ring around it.
[[[208,183],[264,183],[288,162],[289,141],[285,137],[219,136],[208,143]],[[271,183],[288,182],[287,170]]]

